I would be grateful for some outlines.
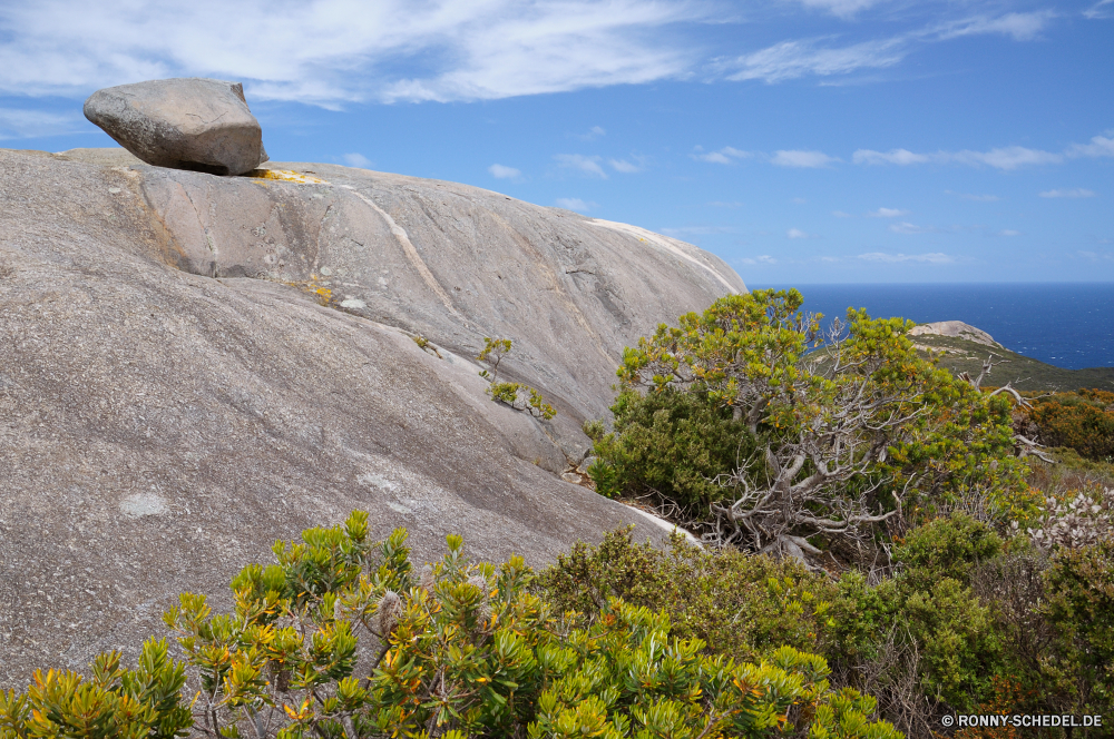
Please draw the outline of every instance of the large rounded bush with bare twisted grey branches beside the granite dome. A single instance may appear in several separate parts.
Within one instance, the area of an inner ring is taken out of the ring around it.
[[[1005,395],[921,359],[900,318],[849,311],[820,341],[801,304],[727,296],[626,349],[597,489],[649,491],[707,542],[802,560],[869,555],[907,512],[964,495],[1000,518],[1030,506]]]

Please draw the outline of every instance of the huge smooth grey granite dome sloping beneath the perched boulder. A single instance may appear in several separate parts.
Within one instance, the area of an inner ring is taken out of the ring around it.
[[[450,532],[535,564],[665,533],[558,475],[622,348],[745,289],[730,268],[472,187],[282,167],[324,181],[0,150],[0,686],[134,656],[178,592],[223,597],[354,508],[418,559]],[[554,422],[485,395],[485,336]]]

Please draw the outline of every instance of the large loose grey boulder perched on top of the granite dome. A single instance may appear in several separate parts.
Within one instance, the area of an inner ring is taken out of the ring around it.
[[[242,175],[267,160],[240,82],[162,79],[97,90],[85,117],[159,167]]]

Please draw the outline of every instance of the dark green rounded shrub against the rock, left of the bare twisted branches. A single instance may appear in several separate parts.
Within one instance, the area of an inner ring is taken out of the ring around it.
[[[697,518],[730,491],[712,481],[754,452],[746,425],[706,395],[627,390],[612,406],[615,432],[597,434],[588,471],[608,497],[656,493]]]

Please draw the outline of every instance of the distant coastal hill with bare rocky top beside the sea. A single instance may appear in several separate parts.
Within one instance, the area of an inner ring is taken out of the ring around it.
[[[1064,370],[1012,352],[985,331],[959,321],[921,324],[909,336],[922,355],[937,357],[940,367],[956,374],[966,372],[977,377],[983,363],[993,356],[996,364],[983,381],[984,387],[1013,383],[1020,391],[1114,391],[1114,367]],[[997,364],[999,361],[1001,364]]]

